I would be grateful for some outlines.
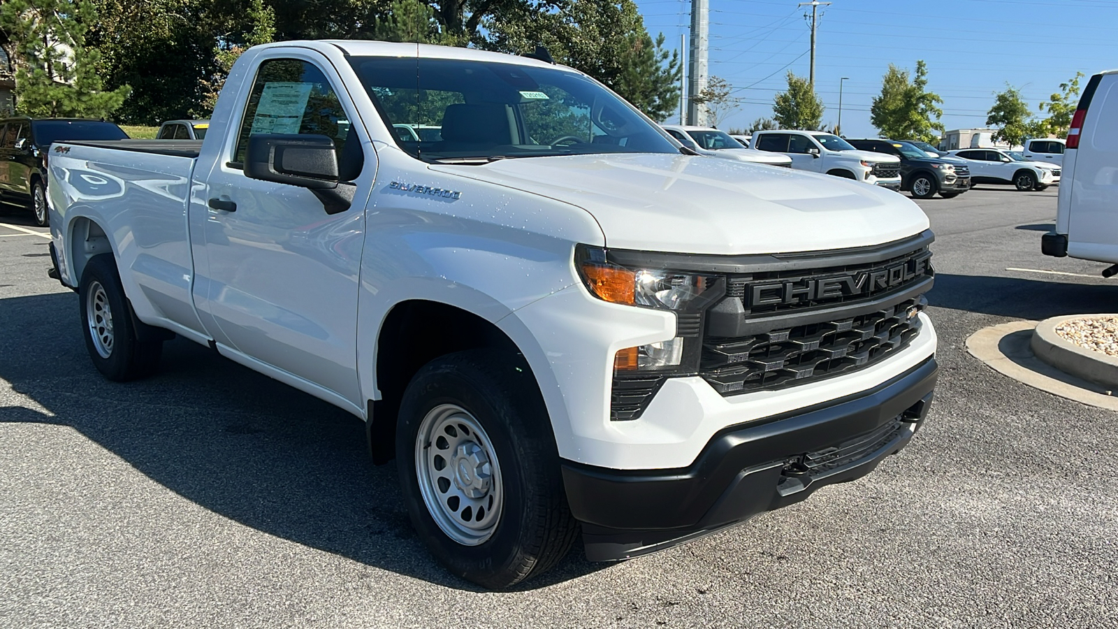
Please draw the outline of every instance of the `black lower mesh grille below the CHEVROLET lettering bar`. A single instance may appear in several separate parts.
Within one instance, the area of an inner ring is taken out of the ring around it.
[[[908,346],[920,327],[921,298],[881,310],[743,338],[707,338],[700,375],[733,395],[845,374]]]

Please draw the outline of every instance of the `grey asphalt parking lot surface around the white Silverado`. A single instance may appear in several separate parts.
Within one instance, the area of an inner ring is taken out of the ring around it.
[[[184,340],[155,377],[104,381],[45,231],[0,217],[0,627],[1118,627],[1118,416],[964,345],[1118,312],[1102,264],[1041,255],[1055,198],[920,201],[941,375],[874,473],[636,561],[576,550],[502,593],[434,563],[348,413]]]

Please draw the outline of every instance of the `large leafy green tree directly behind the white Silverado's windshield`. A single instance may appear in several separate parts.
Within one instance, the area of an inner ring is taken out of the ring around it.
[[[664,36],[655,40],[632,0],[563,0],[520,4],[484,22],[485,39],[474,43],[501,53],[531,53],[548,48],[556,62],[580,69],[617,92],[654,120],[676,111],[682,73],[679,53],[664,48]]]

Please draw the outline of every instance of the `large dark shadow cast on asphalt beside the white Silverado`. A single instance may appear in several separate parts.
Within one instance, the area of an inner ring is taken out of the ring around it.
[[[0,423],[70,426],[179,496],[245,526],[454,589],[414,533],[396,466],[373,466],[362,422],[184,339],[161,370],[111,383],[89,363],[77,297],[0,300],[0,378],[50,414],[0,407]],[[59,505],[58,508],[65,508]],[[605,567],[577,544],[531,590]]]

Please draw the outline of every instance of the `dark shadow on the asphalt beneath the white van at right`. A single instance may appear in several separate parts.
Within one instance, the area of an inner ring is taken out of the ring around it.
[[[1041,320],[1060,314],[1118,312],[1118,285],[937,273],[928,303]]]

